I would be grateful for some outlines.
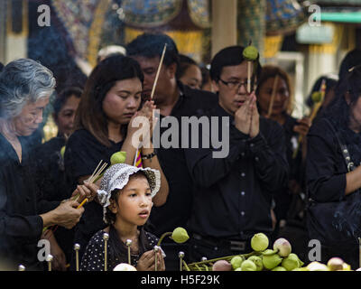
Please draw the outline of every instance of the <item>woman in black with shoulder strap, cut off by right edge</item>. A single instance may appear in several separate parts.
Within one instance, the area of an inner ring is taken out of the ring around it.
[[[323,117],[310,127],[306,180],[310,238],[321,262],[339,256],[359,267],[361,237],[361,67],[351,68]]]

